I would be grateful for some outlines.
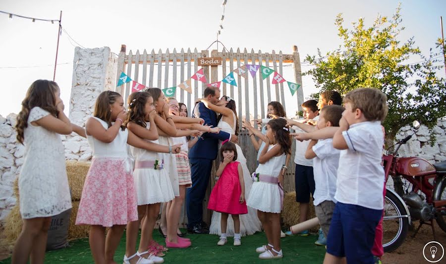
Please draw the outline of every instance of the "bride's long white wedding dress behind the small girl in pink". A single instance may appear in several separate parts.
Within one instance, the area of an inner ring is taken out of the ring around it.
[[[232,114],[234,117],[234,126],[236,122],[235,114]],[[235,133],[235,128],[232,128],[228,123],[223,121],[223,118],[220,120],[218,127],[220,130],[227,132],[229,134]],[[222,142],[220,142],[221,147]],[[245,200],[248,200],[249,192],[251,191],[252,186],[252,178],[251,174],[249,173],[248,167],[246,166],[246,158],[243,155],[243,152],[237,144],[235,144],[235,147],[237,148],[237,160],[240,162],[240,165],[243,169],[243,179],[245,182]],[[257,210],[250,208],[248,206],[248,213],[247,214],[240,214],[240,234],[242,236],[245,235],[252,235],[257,231],[261,231],[261,222],[259,220],[259,217],[257,217]],[[220,225],[220,220],[222,219],[222,214],[220,212],[214,211],[212,213],[212,220],[211,220],[211,226],[209,228],[210,234],[222,234],[222,228]],[[234,235],[234,222],[232,221],[231,216],[227,218],[227,227],[226,227],[226,234],[228,236]]]

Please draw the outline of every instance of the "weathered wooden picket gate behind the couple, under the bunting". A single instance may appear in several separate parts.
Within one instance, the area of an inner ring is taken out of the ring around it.
[[[132,51],[129,51],[127,54],[125,45],[122,45],[121,52],[118,55],[116,80],[118,80],[121,72],[124,72],[130,76],[132,80],[147,87],[158,87],[160,89],[174,87],[189,79],[199,70],[197,60],[201,57],[223,58],[222,66],[200,66],[200,68],[204,69],[208,83],[214,83],[222,80],[227,74],[243,64],[257,64],[271,67],[275,71],[279,72],[281,76],[283,76],[283,67],[292,66],[294,73],[293,82],[300,84],[301,87],[296,92],[297,100],[293,100],[293,103],[291,104],[292,106],[288,107],[298,108],[298,110],[301,109],[300,105],[303,103],[302,76],[300,56],[296,46],[293,47],[293,53],[291,54],[283,54],[281,51],[279,51],[279,53],[276,53],[275,51],[272,53],[262,53],[261,51],[254,53],[253,49],[251,49],[250,53],[248,53],[246,49],[244,49],[243,52],[240,52],[240,49],[237,49],[236,52],[233,52],[232,49],[229,51],[223,49],[221,52],[212,50],[211,54],[209,54],[208,50],[198,52],[197,49],[194,49],[194,51],[191,52],[191,50],[188,49],[185,52],[184,49],[181,49],[181,51],[177,53],[176,49],[173,49],[173,51],[170,53],[167,49],[166,53],[163,53],[160,49],[158,53],[155,53],[154,50],[152,50],[151,53],[147,53],[147,51],[144,50],[142,54],[139,51],[136,51],[135,54],[133,54]],[[283,65],[284,63],[289,64]],[[252,117],[254,119],[265,118],[267,105],[271,101],[280,102],[286,110],[287,106],[285,104],[284,91],[288,89],[286,84],[284,88],[283,83],[272,85],[270,77],[267,77],[264,81],[260,72],[258,72],[254,78],[251,78],[250,76],[247,78],[242,78],[240,75],[237,75],[236,83],[237,87],[234,87],[233,85],[222,82],[223,87],[221,87],[220,90],[222,91],[222,96],[228,95],[237,103],[237,113],[239,119],[239,145],[247,159],[248,169],[253,172],[257,167],[257,152],[251,144],[248,133],[242,129],[241,122],[244,118],[248,121],[251,120]],[[202,93],[206,88],[206,83],[192,80],[191,87],[193,88],[192,94],[189,94],[179,88],[176,89],[175,94],[178,102],[184,103],[187,106],[189,115],[196,99],[202,97]],[[123,95],[124,102],[127,102],[127,97],[129,96],[130,91],[131,82],[116,87],[116,92]],[[286,94],[290,95],[289,92]],[[255,126],[257,127],[257,125]],[[290,164],[288,164],[289,169],[284,177],[285,191],[294,191],[294,150],[295,144],[293,142],[291,151],[292,157]],[[215,170],[216,169],[213,169],[210,186],[203,203],[204,209],[207,208],[207,201],[210,191],[215,184]],[[180,223],[182,222],[184,225],[186,217],[183,213],[181,217]],[[210,211],[208,211],[208,213],[204,213],[203,215],[203,219],[207,222],[210,222],[210,217]]]

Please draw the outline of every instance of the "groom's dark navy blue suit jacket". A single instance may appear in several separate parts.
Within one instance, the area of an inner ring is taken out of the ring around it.
[[[195,105],[192,117],[203,118],[205,124],[217,127],[217,114],[201,102]],[[203,139],[199,138],[198,142],[189,150],[189,158],[216,159],[219,140],[229,139],[230,134],[223,131],[218,134],[207,132],[202,137]]]

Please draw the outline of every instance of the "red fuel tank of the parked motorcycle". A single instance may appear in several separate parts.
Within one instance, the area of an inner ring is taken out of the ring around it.
[[[400,175],[424,176],[436,174],[437,170],[426,159],[408,157],[398,158],[396,172]]]

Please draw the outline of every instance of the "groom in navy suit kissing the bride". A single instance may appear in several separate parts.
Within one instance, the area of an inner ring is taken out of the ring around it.
[[[220,90],[216,88],[206,88],[203,96],[212,104],[217,104],[220,98]],[[203,118],[204,123],[217,127],[217,114],[208,109],[203,103],[195,105],[192,111],[192,117]],[[186,207],[187,207],[187,231],[189,233],[207,234],[208,226],[203,222],[203,198],[211,176],[212,162],[217,158],[219,140],[229,139],[236,143],[238,138],[220,131],[218,134],[204,133],[203,139],[189,150],[189,161],[192,176],[192,186],[187,189]]]

